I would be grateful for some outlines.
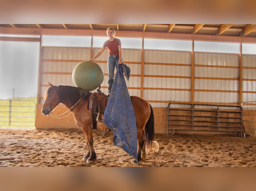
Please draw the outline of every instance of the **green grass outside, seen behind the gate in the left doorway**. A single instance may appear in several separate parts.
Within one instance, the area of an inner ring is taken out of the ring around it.
[[[0,128],[35,128],[35,97],[0,100]]]

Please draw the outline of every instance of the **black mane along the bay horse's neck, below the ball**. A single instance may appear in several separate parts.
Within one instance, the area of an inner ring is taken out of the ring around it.
[[[70,100],[72,104],[76,104],[79,99],[86,100],[90,95],[89,91],[75,86],[58,85],[57,88],[60,100]]]

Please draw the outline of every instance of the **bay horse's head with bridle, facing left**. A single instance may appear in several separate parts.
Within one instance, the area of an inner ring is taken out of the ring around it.
[[[46,98],[43,104],[42,113],[48,115],[59,104],[59,97],[57,94],[57,86],[48,83],[49,88],[46,93]]]

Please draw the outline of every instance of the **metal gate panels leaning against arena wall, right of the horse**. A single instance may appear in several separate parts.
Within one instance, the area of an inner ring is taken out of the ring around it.
[[[167,135],[175,131],[215,131],[243,136],[243,110],[237,105],[170,102],[167,106]]]

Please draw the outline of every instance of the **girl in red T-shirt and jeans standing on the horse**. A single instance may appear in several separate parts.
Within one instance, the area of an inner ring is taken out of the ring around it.
[[[106,48],[108,48],[109,56],[108,56],[108,95],[110,94],[113,82],[114,82],[114,71],[115,67],[118,68],[118,64],[123,63],[122,58],[122,47],[121,47],[121,41],[120,39],[115,38],[115,31],[113,28],[107,29],[107,36],[109,37],[109,40],[107,40],[104,44],[101,50],[91,59],[91,61],[94,61],[96,58],[98,58]]]

